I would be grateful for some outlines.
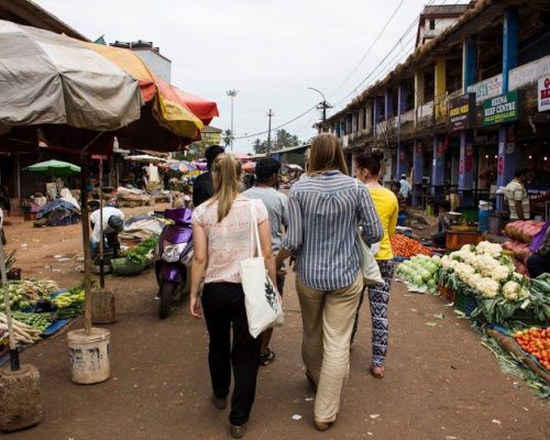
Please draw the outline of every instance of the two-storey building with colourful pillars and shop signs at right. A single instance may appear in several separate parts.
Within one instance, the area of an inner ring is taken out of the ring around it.
[[[411,176],[415,205],[452,193],[498,204],[518,168],[549,189],[550,2],[477,0],[430,38],[429,20],[404,64],[329,118],[349,164],[384,148],[385,180]]]

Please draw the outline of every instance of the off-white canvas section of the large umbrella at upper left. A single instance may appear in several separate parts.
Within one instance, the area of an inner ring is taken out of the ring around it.
[[[140,119],[139,82],[77,40],[0,20],[0,132],[68,124],[112,131]]]

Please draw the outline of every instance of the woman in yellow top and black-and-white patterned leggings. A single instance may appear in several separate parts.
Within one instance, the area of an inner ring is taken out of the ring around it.
[[[363,153],[355,158],[355,175],[366,185],[371,198],[373,199],[376,212],[380,216],[384,228],[384,238],[380,242],[380,251],[376,254],[380,272],[385,284],[375,284],[365,289],[369,289],[369,300],[371,304],[371,315],[373,320],[373,359],[371,364],[371,374],[374,377],[384,377],[384,360],[387,352],[387,305],[389,300],[389,289],[392,288],[392,279],[394,277],[394,253],[389,238],[395,232],[397,224],[397,215],[399,212],[399,204],[397,197],[389,189],[384,188],[380,183],[381,163],[384,158],[384,153],[380,150],[374,150],[371,153]],[[355,326],[353,328],[353,337],[358,329],[359,310],[363,302],[364,290],[359,304],[358,314],[355,316]]]

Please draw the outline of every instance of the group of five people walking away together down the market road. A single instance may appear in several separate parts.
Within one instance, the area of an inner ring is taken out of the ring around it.
[[[306,380],[316,392],[318,430],[329,429],[340,411],[352,333],[366,292],[374,322],[371,372],[376,377],[384,375],[393,276],[388,240],[395,230],[398,202],[392,191],[377,184],[381,158],[377,153],[360,157],[359,180],[354,179],[349,176],[338,139],[320,134],[311,145],[307,173],[287,197],[277,190],[278,162],[258,161],[255,185],[241,193],[239,162],[216,148],[207,152],[209,173],[201,176],[194,194],[189,307],[194,317],[204,315],[207,323],[212,403],[219,409],[227,406],[233,376],[229,421],[234,438],[245,432],[260,365],[275,359],[270,348],[271,330],[254,339],[248,327],[239,265],[254,252],[262,252],[265,270],[280,293],[285,264],[289,258],[295,262],[304,331],[301,355]],[[261,250],[252,249],[252,209]],[[384,284],[365,289],[358,240],[367,245],[378,243],[376,258]]]

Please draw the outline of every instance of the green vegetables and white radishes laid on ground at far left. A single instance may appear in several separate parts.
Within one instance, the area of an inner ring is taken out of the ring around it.
[[[84,288],[81,285],[68,292],[50,279],[8,282],[10,309],[15,328],[15,340],[31,344],[53,323],[81,315]],[[4,315],[3,290],[0,287],[0,345],[8,343],[8,327]]]

